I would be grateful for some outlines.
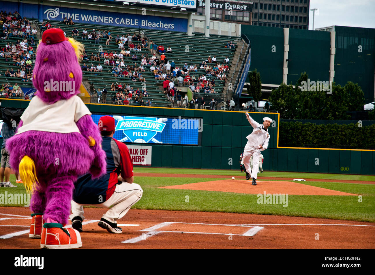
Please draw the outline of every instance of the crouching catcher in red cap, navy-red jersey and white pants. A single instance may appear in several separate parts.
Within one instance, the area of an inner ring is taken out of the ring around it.
[[[72,200],[72,227],[82,232],[84,212],[82,204],[96,207],[111,207],[101,218],[98,225],[110,233],[122,233],[117,226],[130,207],[139,201],[143,190],[133,183],[133,162],[125,143],[113,138],[115,120],[111,116],[99,119],[99,130],[102,135],[102,149],[107,155],[107,173],[98,179],[91,174],[78,178]]]

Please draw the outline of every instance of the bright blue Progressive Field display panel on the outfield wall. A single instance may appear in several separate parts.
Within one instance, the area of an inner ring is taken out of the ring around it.
[[[99,123],[103,114],[93,114],[95,123]],[[126,143],[163,143],[199,145],[199,130],[202,125],[198,119],[113,116],[115,133],[113,138]]]

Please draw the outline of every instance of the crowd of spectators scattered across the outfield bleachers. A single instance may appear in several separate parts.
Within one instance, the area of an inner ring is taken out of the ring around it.
[[[5,40],[12,36],[19,38],[17,43],[8,42],[5,47],[1,48],[0,58],[13,62],[14,67],[8,68],[4,72],[4,75],[8,78],[20,78],[19,81],[32,81],[32,59],[35,55],[34,47],[36,47],[35,39],[37,31],[35,28],[31,29],[30,22],[26,18],[22,18],[17,11],[13,14],[1,11],[0,17],[0,23],[3,25],[3,35],[1,35],[1,38]],[[74,25],[72,18],[65,18],[63,23],[69,26]],[[43,31],[52,27],[55,26],[46,21],[41,24],[40,29]],[[163,84],[164,93],[168,100],[172,103],[176,101],[179,107],[185,108],[190,108],[192,102],[188,102],[186,96],[182,97],[178,93],[178,86],[188,86],[193,92],[216,93],[215,81],[222,80],[225,83],[227,82],[226,74],[229,70],[228,57],[219,61],[216,59],[216,56],[212,58],[208,56],[200,64],[192,63],[188,65],[185,63],[184,66],[178,67],[174,60],[168,60],[168,55],[173,52],[169,45],[164,47],[162,44],[158,45],[152,40],[149,44],[147,39],[142,38],[140,34],[117,35],[113,39],[109,30],[93,29],[88,32],[87,29],[79,31],[74,27],[71,32],[69,35],[73,37],[81,36],[81,39],[93,41],[95,44],[99,44],[101,39],[105,38],[105,45],[109,45],[113,40],[117,45],[118,53],[117,51],[101,51],[89,55],[87,51],[84,51],[84,54],[81,56],[83,71],[90,71],[95,74],[108,71],[112,73],[116,80],[123,80],[122,82],[125,83],[129,82],[124,87],[121,83],[112,84],[109,90],[116,92],[116,94],[112,98],[108,98],[108,100],[111,100],[113,104],[150,106],[151,101],[144,99],[144,97],[146,99],[148,97],[147,90],[134,90],[130,85],[135,82],[146,82],[142,73],[148,70],[153,74],[155,80]],[[225,47],[234,48],[234,44],[228,41]],[[148,48],[151,52],[150,55],[142,53],[142,50],[148,50]],[[128,63],[126,59],[131,59],[136,61],[136,63]],[[93,63],[90,64],[90,61],[100,63],[93,65]],[[193,72],[198,72],[198,70],[199,72],[204,71],[204,73],[199,77],[196,74],[192,74]],[[9,87],[6,88],[2,89],[2,93],[5,90],[9,91]],[[99,102],[103,101],[103,99],[104,102],[107,100],[107,90],[105,94],[104,90],[98,91]],[[13,96],[13,92],[6,92],[6,94]],[[195,108],[197,108],[197,102],[200,100],[196,99],[193,101]],[[210,104],[212,105],[211,101]],[[204,104],[200,104],[199,106],[204,106]]]

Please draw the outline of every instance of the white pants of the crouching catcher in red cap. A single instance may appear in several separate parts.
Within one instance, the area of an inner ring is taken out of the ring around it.
[[[78,204],[72,200],[72,215],[70,215],[69,218],[72,219],[75,216],[80,216],[81,219],[84,220],[85,217],[83,216],[83,206],[86,205],[93,205],[96,207],[104,208],[108,208],[113,205],[113,207],[111,207],[111,209],[109,209],[102,216],[102,218],[115,223],[117,219],[121,219],[127,213],[127,211],[129,211],[130,207],[132,207],[137,201],[141,199],[142,194],[143,190],[141,186],[139,186],[139,184],[123,182],[116,185],[113,195],[111,195],[111,197],[104,203]]]

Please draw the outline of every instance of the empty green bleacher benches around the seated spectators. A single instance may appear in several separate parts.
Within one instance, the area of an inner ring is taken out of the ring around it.
[[[31,21],[30,21],[31,22]],[[176,33],[176,32],[162,32],[162,31],[154,31],[154,30],[141,30],[141,29],[134,29],[134,28],[119,28],[119,27],[112,27],[112,26],[102,26],[102,25],[93,25],[93,24],[82,24],[82,23],[75,23],[74,26],[69,26],[63,24],[62,21],[49,21],[49,23],[53,27],[61,28],[65,31],[66,36],[72,35],[72,30],[76,28],[79,32],[79,36],[74,36],[75,39],[80,41],[84,44],[85,50],[87,51],[87,55],[90,57],[90,55],[93,53],[94,55],[101,51],[107,51],[110,53],[111,51],[117,53],[120,52],[120,49],[118,48],[118,45],[115,43],[115,38],[117,35],[126,35],[126,34],[134,34],[134,33],[140,33],[142,37],[147,38],[148,45],[150,45],[150,41],[152,40],[157,45],[162,44],[167,48],[167,46],[170,46],[172,48],[172,53],[165,54],[169,61],[174,60],[174,63],[176,67],[182,68],[185,63],[188,65],[195,64],[198,65],[202,61],[207,60],[208,56],[213,57],[214,55],[217,58],[217,62],[222,63],[225,57],[228,57],[230,60],[230,65],[233,61],[234,51],[235,49],[228,50],[225,48],[226,43],[228,40],[232,40],[234,44],[236,44],[236,41],[234,40],[234,37],[228,37],[228,36],[212,36],[210,38],[206,38],[204,36],[200,35],[194,35],[194,36],[187,36],[183,33]],[[41,23],[38,23],[38,27],[40,27]],[[110,41],[110,45],[105,45],[105,36],[101,38],[99,45],[95,44],[93,40],[83,40],[81,39],[82,31],[86,29],[88,32],[91,32],[93,29],[98,32],[98,30],[103,31],[110,31],[112,39]],[[38,29],[38,32],[40,32],[40,29]],[[40,36],[38,36],[40,38]],[[38,39],[35,38],[35,41]],[[1,40],[1,47],[4,46],[4,43],[6,42],[17,42],[17,38],[8,38],[7,40]],[[100,47],[100,48],[99,48]],[[127,48],[127,47],[126,47]],[[36,47],[34,47],[34,51],[36,50]],[[148,56],[151,56],[150,49],[142,48],[142,51],[131,51],[131,55],[133,53],[136,53],[139,56],[141,54],[148,54]],[[33,57],[34,62],[35,57]],[[133,61],[130,57],[124,57],[124,63],[126,65],[134,65],[135,63],[140,65],[141,60]],[[82,62],[86,63],[86,65],[90,68],[91,64],[94,66],[97,66],[99,63],[103,66],[102,72],[89,72],[84,71],[83,72],[83,81],[87,81],[87,83],[93,84],[95,87],[95,93],[92,95],[92,102],[97,103],[96,98],[96,90],[103,89],[104,87],[108,90],[107,95],[107,101],[105,103],[112,104],[112,97],[115,95],[116,92],[110,91],[110,87],[112,83],[122,83],[123,86],[126,86],[126,84],[130,84],[130,86],[133,87],[134,90],[139,88],[142,90],[144,86],[142,86],[141,81],[132,82],[129,80],[129,78],[122,78],[122,77],[114,77],[111,69],[112,66],[105,65],[103,63],[103,60],[101,61],[86,61]],[[7,83],[10,81],[15,82],[14,78],[5,78],[3,73],[6,71],[7,68],[15,68],[15,66],[12,66],[13,62],[12,60],[6,61],[5,59],[0,59],[0,72],[2,74],[0,78],[0,85],[2,83]],[[230,68],[229,65],[229,68]],[[142,76],[145,78],[145,87],[148,92],[148,98],[152,102],[152,106],[159,106],[159,107],[177,107],[176,104],[172,105],[170,101],[167,100],[166,96],[163,94],[162,89],[162,81],[163,80],[155,80],[154,74],[150,71],[150,66],[146,65],[144,66],[145,72],[142,72]],[[229,70],[230,72],[230,70]],[[226,72],[227,75],[229,75],[228,72]],[[197,72],[189,72],[189,75],[194,75],[196,79],[199,78],[200,75],[205,75],[204,69],[199,69]],[[215,76],[207,77],[207,80],[215,79],[215,93],[195,93],[194,97],[201,98],[204,96],[206,98],[206,101],[211,101],[211,98],[220,98],[220,96],[223,93],[223,88],[225,86],[224,81],[222,80],[216,80]],[[20,81],[18,81],[20,82]],[[195,81],[196,84],[196,81]],[[143,84],[144,85],[144,84]],[[23,82],[21,83],[21,88],[32,87],[31,82]],[[89,85],[87,84],[86,87],[88,88]],[[89,90],[89,89],[87,89]],[[138,105],[135,103],[130,103],[130,105]]]

